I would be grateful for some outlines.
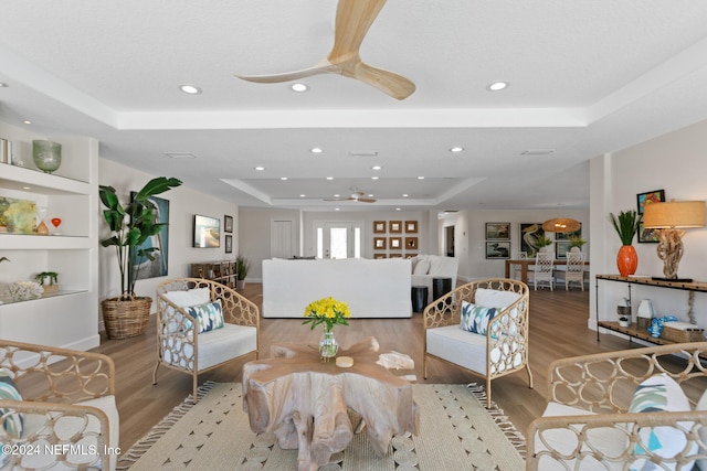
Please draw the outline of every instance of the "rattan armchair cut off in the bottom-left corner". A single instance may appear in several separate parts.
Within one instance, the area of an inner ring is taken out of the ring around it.
[[[114,470],[119,419],[115,365],[106,355],[0,340],[0,370],[22,400],[0,398],[2,469]],[[20,437],[6,420],[21,415]],[[1,464],[0,464],[1,467]]]

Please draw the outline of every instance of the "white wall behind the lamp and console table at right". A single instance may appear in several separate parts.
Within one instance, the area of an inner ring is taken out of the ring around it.
[[[707,121],[667,133],[641,144],[597,157],[591,162],[592,237],[603,238],[602,250],[593,247],[591,271],[618,275],[615,257],[621,240],[609,222],[609,213],[636,208],[636,194],[665,190],[667,200],[707,200],[707,186],[701,180],[707,171]],[[685,253],[678,276],[707,280],[707,228],[687,229],[683,238]],[[663,276],[663,261],[656,255],[656,244],[634,242],[639,254],[636,275]],[[592,287],[593,290],[593,287]],[[626,285],[601,281],[600,319],[615,320],[616,303],[627,296]],[[687,321],[687,291],[632,287],[633,310],[641,299],[650,298],[658,315],[675,314]],[[589,325],[594,328],[595,301],[590,296]],[[707,295],[695,296],[697,323],[707,328]]]

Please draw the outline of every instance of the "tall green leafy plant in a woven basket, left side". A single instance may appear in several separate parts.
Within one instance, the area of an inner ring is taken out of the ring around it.
[[[139,267],[136,260],[155,260],[156,247],[138,249],[148,237],[157,235],[166,223],[157,222],[157,212],[150,196],[181,185],[175,178],[158,176],[145,184],[125,206],[113,186],[101,185],[98,195],[105,206],[103,217],[110,228],[110,236],[101,240],[103,247],[115,247],[120,270],[120,296],[105,299],[101,304],[106,333],[109,339],[127,339],[141,335],[147,328],[151,297],[137,297],[135,282]]]

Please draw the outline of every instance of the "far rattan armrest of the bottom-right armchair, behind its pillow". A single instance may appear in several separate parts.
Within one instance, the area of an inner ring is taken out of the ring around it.
[[[548,370],[547,398],[595,413],[624,413],[635,387],[654,374],[666,373],[680,384],[707,376],[700,362],[706,354],[707,342],[693,342],[557,360]],[[666,364],[672,355],[687,358],[685,367]]]

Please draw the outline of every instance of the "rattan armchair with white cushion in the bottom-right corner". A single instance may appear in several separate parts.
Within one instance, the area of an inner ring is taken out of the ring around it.
[[[528,428],[526,469],[693,469],[694,461],[707,459],[707,435],[703,435],[707,433],[707,410],[695,409],[703,403],[699,399],[707,386],[705,355],[707,342],[695,342],[551,363],[548,407]],[[658,373],[679,384],[692,410],[627,411],[636,386]],[[671,433],[669,442],[679,452],[666,448],[646,451],[647,437],[656,427],[664,427],[662,433]],[[700,449],[703,454],[698,454]],[[639,460],[647,462],[646,468]]]

